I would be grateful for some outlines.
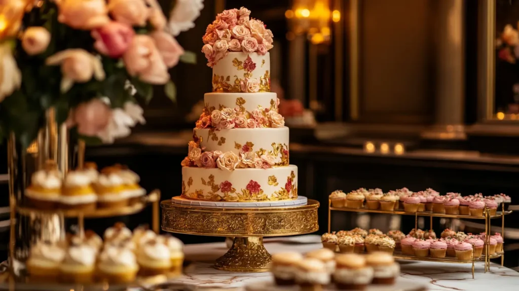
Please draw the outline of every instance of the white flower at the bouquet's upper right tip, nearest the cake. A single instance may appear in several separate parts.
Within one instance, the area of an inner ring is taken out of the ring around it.
[[[203,0],[177,0],[169,16],[169,31],[177,36],[181,32],[195,27],[195,19],[200,16]]]

